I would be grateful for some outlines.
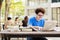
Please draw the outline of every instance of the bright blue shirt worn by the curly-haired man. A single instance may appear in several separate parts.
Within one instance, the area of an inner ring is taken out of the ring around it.
[[[35,17],[32,17],[28,20],[28,25],[31,25],[31,26],[44,27],[44,23],[45,23],[44,19],[37,21]]]

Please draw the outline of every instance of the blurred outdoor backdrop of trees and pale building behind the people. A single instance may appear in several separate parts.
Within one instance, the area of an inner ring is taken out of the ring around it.
[[[55,20],[56,26],[60,27],[60,0],[0,0],[0,27],[7,21],[7,17],[14,20],[18,16],[19,20],[23,20],[26,15],[35,16],[34,10],[38,7],[45,8],[46,20]]]

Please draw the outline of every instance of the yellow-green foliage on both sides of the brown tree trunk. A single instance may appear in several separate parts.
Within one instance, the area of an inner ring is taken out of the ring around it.
[[[14,2],[14,0],[10,0],[9,14],[12,14],[14,16],[24,15],[23,2],[21,0],[18,2]],[[5,15],[5,1],[3,2],[2,5],[2,15]]]

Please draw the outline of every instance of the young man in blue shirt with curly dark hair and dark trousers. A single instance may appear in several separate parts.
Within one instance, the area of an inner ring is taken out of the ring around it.
[[[35,13],[36,13],[36,16],[28,20],[28,25],[32,26],[35,29],[42,30],[45,23],[45,19],[43,19],[43,16],[45,14],[45,9],[37,8],[35,10]],[[28,37],[27,40],[47,40],[47,39],[44,37],[39,37],[39,38]]]

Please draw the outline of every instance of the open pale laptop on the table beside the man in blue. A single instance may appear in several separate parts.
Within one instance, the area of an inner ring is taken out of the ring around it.
[[[43,30],[53,30],[56,27],[57,21],[45,21]]]

